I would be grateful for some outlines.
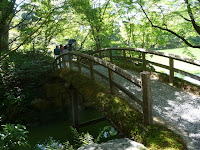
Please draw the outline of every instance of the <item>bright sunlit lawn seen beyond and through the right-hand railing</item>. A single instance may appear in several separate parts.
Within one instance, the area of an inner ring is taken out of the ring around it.
[[[165,50],[158,50],[160,52],[164,53],[170,53],[170,54],[176,54],[192,59],[197,59],[200,60],[200,49],[195,49],[195,48],[176,48],[176,49],[165,49]],[[152,57],[153,56],[153,57]],[[153,62],[158,62],[164,65],[169,65],[169,59],[164,58],[161,56],[155,56],[155,55],[147,55],[147,59]],[[181,61],[174,61],[174,67],[177,69],[181,69],[190,73],[194,74],[200,74],[200,69],[198,66],[191,65],[188,63],[184,63]],[[157,71],[159,72],[165,72],[166,69],[160,68],[160,67],[155,67]]]

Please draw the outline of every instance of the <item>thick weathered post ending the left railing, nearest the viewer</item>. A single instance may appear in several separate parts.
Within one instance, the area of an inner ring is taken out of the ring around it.
[[[150,73],[143,71],[140,73],[142,80],[142,100],[143,100],[143,118],[145,125],[153,124],[152,117],[152,95]]]

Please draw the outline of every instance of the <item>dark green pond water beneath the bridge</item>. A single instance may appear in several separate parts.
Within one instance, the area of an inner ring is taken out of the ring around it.
[[[93,108],[82,110],[79,112],[79,115],[80,122],[85,122],[101,117],[101,114]],[[34,128],[29,128],[28,142],[31,147],[34,147],[36,144],[42,145],[42,143],[45,143],[47,139],[52,137],[53,140],[59,141],[60,143],[64,143],[66,141],[73,143],[71,126],[72,119],[69,118],[69,120],[56,120],[41,124]],[[80,129],[80,133],[88,132],[93,136],[94,139],[96,139],[105,127],[108,128],[106,128],[105,133],[103,133],[104,139],[109,139],[111,136],[119,137],[116,136],[116,131],[110,126],[108,121],[102,121],[90,126],[83,127]]]

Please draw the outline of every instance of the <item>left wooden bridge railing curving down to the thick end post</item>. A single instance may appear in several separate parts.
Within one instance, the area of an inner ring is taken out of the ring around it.
[[[151,95],[151,85],[150,85],[150,73],[149,72],[142,72],[141,73],[141,80],[135,78],[131,73],[128,71],[108,62],[102,60],[97,57],[93,57],[87,54],[78,53],[78,52],[67,52],[61,54],[57,57],[53,63],[55,70],[60,69],[70,69],[72,70],[77,65],[77,69],[79,73],[83,73],[82,68],[89,70],[90,78],[95,80],[95,74],[102,77],[106,81],[109,82],[109,89],[110,93],[114,94],[115,89],[119,89],[131,99],[133,99],[139,106],[143,109],[143,117],[144,117],[144,124],[151,125],[153,123],[152,119],[152,95]],[[94,65],[98,64],[105,67],[108,70],[108,76],[99,72],[98,70],[94,69]],[[136,87],[140,88],[142,91],[142,97],[137,98],[131,91],[127,90],[119,83],[114,81],[113,73],[118,74],[122,78],[128,80]]]

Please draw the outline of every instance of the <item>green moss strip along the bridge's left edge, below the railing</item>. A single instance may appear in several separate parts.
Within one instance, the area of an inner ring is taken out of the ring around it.
[[[124,137],[133,138],[149,149],[183,150],[183,140],[164,126],[145,127],[143,116],[125,99],[111,95],[100,83],[94,82],[78,72],[63,70],[60,72],[67,84],[79,91],[87,103],[95,106]]]

